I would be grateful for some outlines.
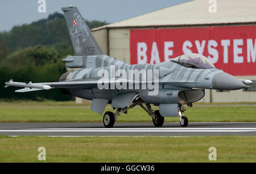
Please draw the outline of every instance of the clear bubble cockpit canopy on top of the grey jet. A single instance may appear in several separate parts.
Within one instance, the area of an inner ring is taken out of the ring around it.
[[[209,69],[215,68],[214,65],[210,62],[210,60],[199,54],[191,53],[187,55],[182,55],[172,59],[172,61],[180,64],[181,66],[188,68],[199,68],[199,69]]]

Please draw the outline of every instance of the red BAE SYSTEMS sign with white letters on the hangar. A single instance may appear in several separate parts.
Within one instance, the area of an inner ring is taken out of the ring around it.
[[[234,76],[256,75],[256,26],[130,30],[131,64],[199,53]]]

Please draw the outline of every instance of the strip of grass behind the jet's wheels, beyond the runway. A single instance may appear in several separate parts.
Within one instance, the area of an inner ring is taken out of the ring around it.
[[[228,104],[228,103],[222,103]],[[241,104],[241,103],[240,103]],[[256,107],[252,106],[208,106],[186,107],[189,122],[256,122]],[[154,107],[157,109],[157,107]],[[110,105],[105,111],[113,111]],[[151,117],[134,107],[122,114],[117,122],[151,122]],[[178,122],[177,117],[165,118],[166,122]],[[75,102],[0,102],[0,122],[102,122],[102,115],[90,111],[90,105]]]

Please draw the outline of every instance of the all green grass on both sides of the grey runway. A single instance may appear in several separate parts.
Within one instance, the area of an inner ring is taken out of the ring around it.
[[[190,122],[256,121],[253,105],[200,103],[186,109]],[[108,106],[106,110],[112,109]],[[176,117],[166,118],[166,122],[178,121]],[[102,115],[90,111],[90,105],[75,102],[0,102],[0,122],[102,122]],[[117,122],[151,122],[151,118],[141,107],[135,107]],[[256,136],[0,136],[0,162],[39,162],[38,148],[42,146],[46,148],[46,162],[214,162],[208,159],[212,146],[217,148],[216,162],[256,162],[255,144]]]

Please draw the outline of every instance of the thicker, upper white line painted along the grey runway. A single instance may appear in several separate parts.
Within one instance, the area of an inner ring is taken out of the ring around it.
[[[255,132],[256,128],[49,128],[0,130],[0,132]]]

